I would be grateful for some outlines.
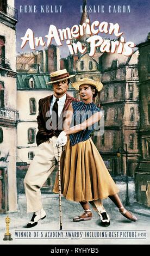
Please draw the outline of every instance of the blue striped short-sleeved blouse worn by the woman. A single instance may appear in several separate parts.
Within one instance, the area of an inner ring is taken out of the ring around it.
[[[72,102],[73,107],[73,117],[70,127],[83,123],[85,120],[91,117],[91,115],[96,112],[100,112],[101,109],[98,108],[93,102],[85,104],[82,101]],[[87,127],[85,130],[74,133],[70,135],[71,145],[75,145],[79,142],[86,141],[90,138],[90,133],[95,129],[97,124]]]

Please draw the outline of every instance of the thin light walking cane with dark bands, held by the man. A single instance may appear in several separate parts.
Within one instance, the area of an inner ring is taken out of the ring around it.
[[[60,147],[57,146],[58,150],[58,180],[59,180],[59,218],[60,218],[60,230],[62,229],[62,215],[61,215],[61,176],[60,176]],[[64,146],[62,146],[64,151]]]

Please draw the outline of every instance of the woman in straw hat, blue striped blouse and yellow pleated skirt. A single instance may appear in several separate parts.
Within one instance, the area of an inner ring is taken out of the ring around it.
[[[72,86],[79,90],[83,101],[71,103],[64,131],[60,133],[57,144],[66,144],[61,155],[61,192],[66,199],[80,202],[84,209],[83,215],[73,218],[73,221],[91,220],[89,202],[98,210],[99,199],[107,197],[116,204],[124,217],[136,221],[137,218],[122,205],[117,194],[118,188],[90,138],[93,125],[98,123],[103,115],[92,99],[103,85],[99,81],[83,78]],[[53,192],[59,192],[58,176]]]

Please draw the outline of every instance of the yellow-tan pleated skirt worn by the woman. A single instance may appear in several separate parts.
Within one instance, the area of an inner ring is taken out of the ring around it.
[[[67,140],[61,154],[61,193],[67,200],[87,202],[104,199],[118,193],[104,161],[92,139],[71,146]],[[58,174],[54,193],[59,193]]]

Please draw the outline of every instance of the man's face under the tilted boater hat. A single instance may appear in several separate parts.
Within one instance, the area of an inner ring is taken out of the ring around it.
[[[66,94],[68,89],[67,79],[62,80],[58,83],[53,83],[53,90],[54,90],[54,96],[55,97],[62,97]]]

